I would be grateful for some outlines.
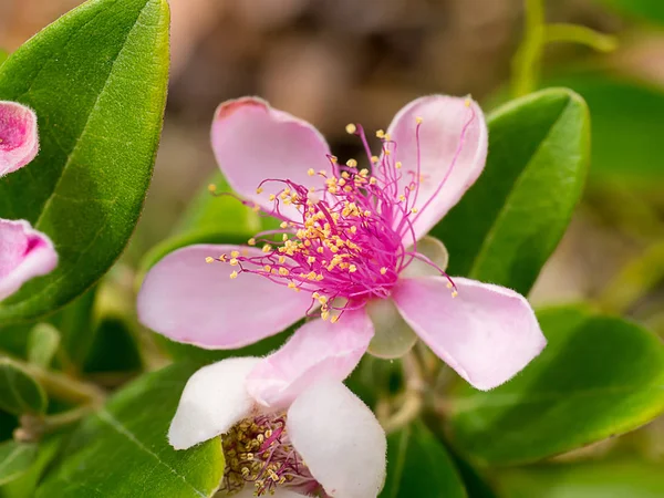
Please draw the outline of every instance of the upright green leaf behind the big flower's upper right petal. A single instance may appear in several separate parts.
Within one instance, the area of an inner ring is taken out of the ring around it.
[[[581,195],[588,107],[575,93],[550,89],[501,106],[488,126],[484,173],[432,234],[449,250],[450,274],[527,293]]]

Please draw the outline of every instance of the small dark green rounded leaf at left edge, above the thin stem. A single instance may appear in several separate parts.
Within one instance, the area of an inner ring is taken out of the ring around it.
[[[42,386],[9,359],[0,357],[0,409],[13,415],[46,411]]]

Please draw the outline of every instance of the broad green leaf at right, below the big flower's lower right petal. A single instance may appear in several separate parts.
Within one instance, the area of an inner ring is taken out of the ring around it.
[[[449,400],[456,446],[494,465],[539,460],[640,427],[664,412],[664,345],[585,308],[538,313],[549,344],[516,378]]]

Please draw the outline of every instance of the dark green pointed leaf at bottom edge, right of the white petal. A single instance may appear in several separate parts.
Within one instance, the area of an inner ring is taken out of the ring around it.
[[[380,498],[465,498],[445,447],[415,421],[387,436],[387,478]]]

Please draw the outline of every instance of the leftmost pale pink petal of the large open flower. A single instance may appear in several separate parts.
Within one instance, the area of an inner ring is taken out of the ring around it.
[[[276,334],[307,312],[311,295],[293,292],[255,273],[229,279],[238,267],[207,263],[234,250],[260,249],[200,245],[166,256],[147,273],[138,293],[138,319],[178,342],[206,349],[235,349]]]

